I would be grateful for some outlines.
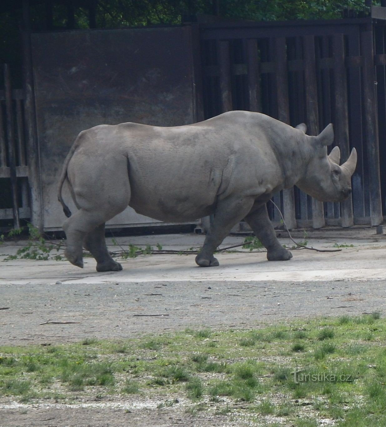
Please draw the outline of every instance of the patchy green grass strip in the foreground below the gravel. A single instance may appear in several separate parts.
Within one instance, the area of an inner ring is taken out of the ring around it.
[[[3,346],[0,396],[35,403],[161,395],[159,408],[188,399],[184,410],[192,415],[210,410],[250,425],[267,416],[284,418],[282,425],[320,425],[322,418],[386,425],[385,331],[386,321],[371,313],[253,330]]]

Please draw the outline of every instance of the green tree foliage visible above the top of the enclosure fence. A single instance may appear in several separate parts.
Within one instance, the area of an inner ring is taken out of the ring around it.
[[[35,10],[34,10],[35,9]],[[365,11],[364,0],[221,0],[219,13],[223,17],[247,20],[290,20],[290,19],[337,19],[342,10],[358,13]],[[36,25],[43,23],[43,11],[33,8],[32,19]],[[100,28],[122,26],[144,26],[151,24],[180,24],[183,17],[195,14],[212,14],[212,2],[206,0],[153,0],[133,2],[128,0],[99,0],[96,23]],[[54,24],[65,26],[67,12],[63,7],[54,7]],[[87,10],[75,9],[77,28],[87,28]]]

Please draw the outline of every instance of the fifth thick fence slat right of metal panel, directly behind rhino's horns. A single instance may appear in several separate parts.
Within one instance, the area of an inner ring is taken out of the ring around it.
[[[334,84],[335,84],[335,141],[339,144],[343,161],[350,155],[348,138],[347,75],[343,34],[333,36]],[[340,203],[342,227],[354,225],[352,197]]]

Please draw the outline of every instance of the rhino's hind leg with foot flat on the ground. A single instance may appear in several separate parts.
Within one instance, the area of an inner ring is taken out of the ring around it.
[[[104,239],[104,223],[90,231],[84,239],[84,249],[90,251],[96,259],[96,271],[120,271],[121,264],[113,260],[106,247]]]

